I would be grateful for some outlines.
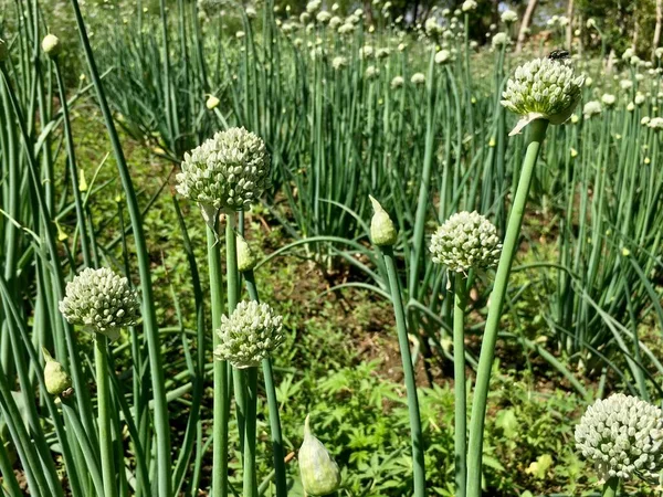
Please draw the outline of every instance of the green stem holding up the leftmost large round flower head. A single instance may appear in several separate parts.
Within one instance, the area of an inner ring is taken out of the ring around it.
[[[117,495],[115,468],[113,464],[113,436],[110,434],[110,389],[108,384],[108,339],[97,334],[94,340],[96,366],[97,403],[99,426],[99,451],[102,455],[102,478],[106,497]]]

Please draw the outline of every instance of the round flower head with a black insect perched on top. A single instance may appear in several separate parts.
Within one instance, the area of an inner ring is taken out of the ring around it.
[[[534,119],[565,123],[580,102],[582,82],[568,61],[535,59],[519,66],[502,94],[502,105],[523,116],[512,135]]]

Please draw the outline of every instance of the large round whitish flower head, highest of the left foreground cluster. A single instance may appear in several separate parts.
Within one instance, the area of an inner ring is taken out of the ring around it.
[[[244,128],[230,128],[185,154],[177,191],[206,208],[241,211],[259,200],[269,176],[264,141]]]

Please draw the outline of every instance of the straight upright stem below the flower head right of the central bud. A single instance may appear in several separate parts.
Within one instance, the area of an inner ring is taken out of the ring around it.
[[[453,381],[454,381],[454,459],[457,497],[465,497],[467,485],[467,401],[465,399],[465,295],[466,279],[462,273],[454,278],[453,307]]]

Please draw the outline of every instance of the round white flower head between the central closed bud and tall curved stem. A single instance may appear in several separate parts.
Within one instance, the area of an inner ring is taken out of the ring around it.
[[[496,265],[502,244],[497,230],[486,218],[476,211],[459,212],[438,228],[430,251],[435,264],[443,264],[454,273],[466,273]]]

